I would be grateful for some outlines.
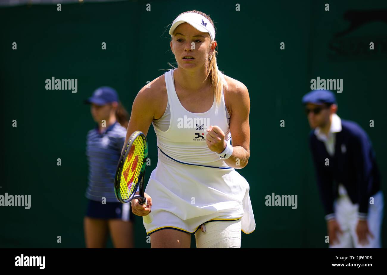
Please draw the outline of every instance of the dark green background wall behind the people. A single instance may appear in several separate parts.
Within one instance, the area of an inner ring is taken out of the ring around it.
[[[147,3],[151,11],[146,11]],[[192,9],[214,20],[219,68],[250,93],[251,157],[238,172],[250,184],[257,227],[243,234],[242,247],[327,247],[301,97],[310,91],[311,79],[343,79],[343,92],[336,94],[338,114],[366,130],[382,180],[386,178],[387,24],[368,22],[345,36],[334,34],[349,26],[343,19],[348,10],[386,9],[387,3],[340,1],[330,3],[329,12],[323,1],[238,3],[240,11],[235,11],[235,1],[75,3],[63,4],[61,12],[56,5],[0,8],[0,195],[31,195],[29,210],[0,208],[0,247],[84,247],[86,133],[94,123],[82,101],[97,87],[110,85],[130,113],[140,88],[165,72],[160,69],[170,68],[168,61],[175,62],[168,25]],[[367,50],[370,41],[374,51]],[[17,50],[12,50],[13,42]],[[107,50],[101,50],[102,42]],[[279,49],[281,42],[285,50]],[[338,54],[332,45],[346,50]],[[51,77],[78,79],[78,92],[45,90]],[[16,128],[12,120],[17,120]],[[157,163],[152,126],[147,138],[149,178]],[[386,190],[384,180],[382,188]],[[297,195],[298,208],[265,206],[271,193]],[[387,247],[385,220],[382,243]],[[192,247],[194,240],[192,236]],[[135,245],[150,247],[140,217]]]

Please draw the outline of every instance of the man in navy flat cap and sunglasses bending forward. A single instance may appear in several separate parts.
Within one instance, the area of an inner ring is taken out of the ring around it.
[[[329,248],[380,248],[383,193],[367,133],[337,114],[334,94],[314,90],[302,98],[309,145],[327,220]]]

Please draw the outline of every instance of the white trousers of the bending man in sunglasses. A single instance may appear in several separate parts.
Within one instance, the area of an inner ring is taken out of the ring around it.
[[[358,204],[353,204],[351,199],[341,191],[341,196],[334,203],[334,211],[337,223],[343,234],[338,233],[339,243],[329,244],[329,248],[380,248],[380,231],[383,219],[383,193],[379,191],[373,195],[373,204],[368,205],[367,224],[368,230],[373,234],[373,238],[367,236],[368,244],[361,245],[356,234],[356,225],[358,224]],[[368,200],[368,203],[370,200]]]

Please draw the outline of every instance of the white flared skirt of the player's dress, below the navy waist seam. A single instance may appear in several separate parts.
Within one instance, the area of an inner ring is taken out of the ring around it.
[[[144,222],[147,235],[165,228],[194,233],[205,222],[238,219],[249,234],[255,230],[249,189],[235,169],[181,164],[159,155],[145,189],[154,217]]]

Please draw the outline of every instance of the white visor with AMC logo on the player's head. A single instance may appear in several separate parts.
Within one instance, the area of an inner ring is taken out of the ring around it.
[[[211,22],[203,15],[197,14],[196,12],[186,12],[185,14],[181,14],[176,17],[176,19],[173,20],[169,34],[172,35],[177,26],[182,23],[188,23],[198,31],[208,32],[212,41],[215,40],[215,29]]]

